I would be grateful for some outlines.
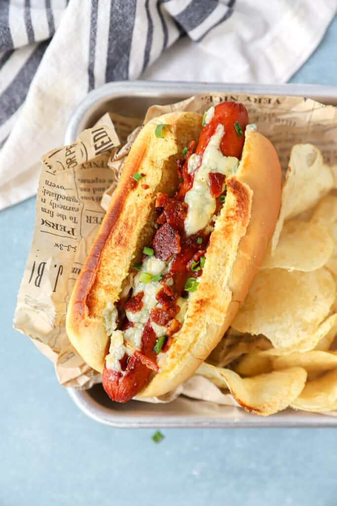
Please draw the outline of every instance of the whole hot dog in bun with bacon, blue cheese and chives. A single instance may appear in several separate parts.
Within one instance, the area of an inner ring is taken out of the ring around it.
[[[248,123],[234,102],[204,117],[170,113],[130,150],[67,313],[71,343],[113,400],[158,396],[188,378],[262,264],[281,171]]]

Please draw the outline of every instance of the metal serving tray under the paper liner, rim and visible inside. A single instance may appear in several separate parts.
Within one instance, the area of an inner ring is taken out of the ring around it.
[[[169,81],[111,82],[90,92],[74,111],[67,127],[65,144],[93,126],[105,112],[142,117],[153,104],[167,104],[205,92],[254,95],[307,96],[324,104],[337,105],[337,87],[316,85],[245,85]],[[112,427],[336,427],[337,417],[284,410],[267,418],[243,409],[179,397],[168,404],[110,401],[102,385],[90,390],[68,389],[75,404],[87,415]],[[202,414],[201,414],[202,411]]]

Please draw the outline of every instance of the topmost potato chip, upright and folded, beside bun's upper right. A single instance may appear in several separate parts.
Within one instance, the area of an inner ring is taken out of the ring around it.
[[[316,204],[332,186],[331,169],[324,164],[319,149],[312,144],[296,144],[285,175],[280,214],[271,239],[272,253],[277,246],[284,221]]]

